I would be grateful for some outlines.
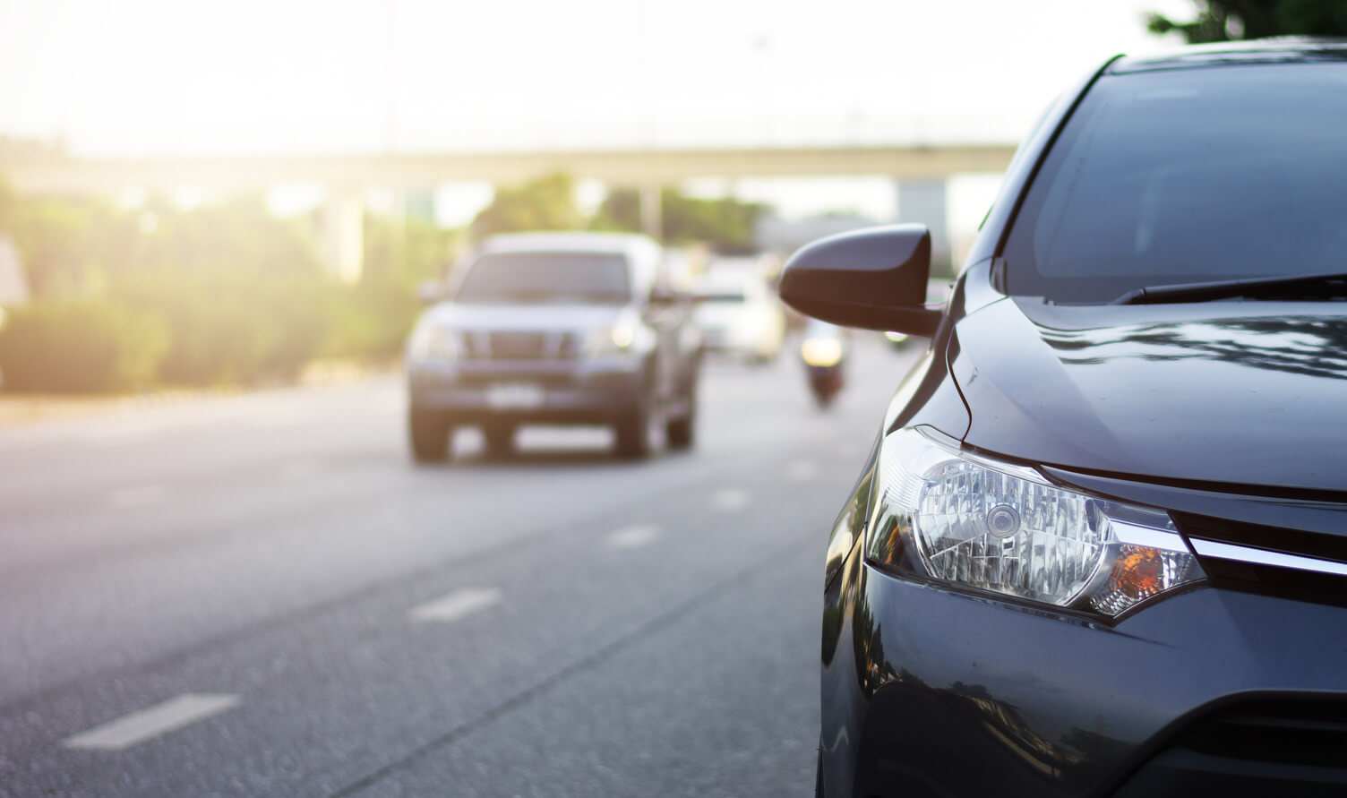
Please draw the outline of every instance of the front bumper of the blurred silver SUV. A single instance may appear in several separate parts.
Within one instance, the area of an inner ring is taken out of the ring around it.
[[[640,360],[564,363],[415,363],[407,372],[412,407],[443,412],[451,423],[509,419],[531,423],[612,423],[641,399]],[[501,404],[493,391],[528,386],[537,402]]]

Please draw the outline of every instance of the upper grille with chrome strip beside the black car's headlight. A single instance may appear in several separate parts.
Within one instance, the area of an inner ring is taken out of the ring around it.
[[[1347,605],[1347,538],[1185,512],[1171,515],[1192,541],[1214,586]]]

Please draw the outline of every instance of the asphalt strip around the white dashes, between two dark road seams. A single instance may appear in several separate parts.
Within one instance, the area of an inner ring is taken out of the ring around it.
[[[853,468],[822,462],[818,481],[827,489],[801,492],[797,479],[783,479],[780,454],[762,450],[745,469],[753,480],[740,488],[746,503],[718,501],[722,487],[695,503],[664,493],[644,515],[554,530],[535,546],[388,585],[294,628],[48,696],[43,717],[59,723],[27,725],[30,713],[11,713],[0,739],[27,740],[18,758],[35,763],[36,785],[71,794],[135,783],[137,794],[317,795],[358,785],[546,687],[595,651],[641,636],[671,608],[737,584],[745,569],[775,567],[799,546],[800,527],[818,561]],[[811,512],[801,496],[814,496]],[[609,543],[641,541],[613,538],[633,518],[667,531],[644,546]],[[818,574],[807,582],[801,588],[816,597]],[[502,598],[443,627],[408,619],[411,609],[465,588],[500,590]],[[814,630],[814,615],[793,621]],[[241,705],[114,755],[54,745],[128,709],[203,690],[240,696]],[[816,690],[800,700],[814,706]],[[185,772],[183,763],[194,764]]]

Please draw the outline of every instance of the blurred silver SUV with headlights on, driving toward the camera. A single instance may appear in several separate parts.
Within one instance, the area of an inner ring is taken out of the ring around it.
[[[408,438],[419,462],[480,426],[490,454],[525,423],[610,425],[624,457],[659,426],[692,443],[700,342],[653,240],[614,233],[488,239],[407,344]]]

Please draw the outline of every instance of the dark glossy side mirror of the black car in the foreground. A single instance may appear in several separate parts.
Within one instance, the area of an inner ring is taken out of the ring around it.
[[[939,310],[925,303],[931,232],[905,224],[828,236],[791,256],[779,291],[806,315],[849,328],[931,337]]]

